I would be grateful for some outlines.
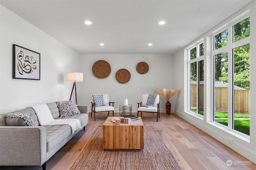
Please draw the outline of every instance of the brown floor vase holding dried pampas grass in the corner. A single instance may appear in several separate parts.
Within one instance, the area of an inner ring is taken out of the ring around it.
[[[156,88],[156,92],[160,95],[160,97],[166,99],[165,109],[166,109],[167,115],[170,115],[171,113],[172,104],[170,103],[170,98],[174,96],[174,94],[180,91],[181,91],[181,88],[176,90],[166,89],[166,88],[164,89]]]

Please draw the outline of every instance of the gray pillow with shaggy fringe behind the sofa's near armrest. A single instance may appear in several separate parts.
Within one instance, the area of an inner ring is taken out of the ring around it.
[[[34,126],[35,122],[28,114],[16,114],[7,113],[5,114],[6,126]]]

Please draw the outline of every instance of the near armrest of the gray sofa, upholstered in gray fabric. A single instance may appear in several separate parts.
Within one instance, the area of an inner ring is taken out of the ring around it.
[[[0,126],[0,166],[46,162],[46,127]]]

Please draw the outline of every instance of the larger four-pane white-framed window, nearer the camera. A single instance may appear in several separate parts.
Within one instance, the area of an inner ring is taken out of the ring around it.
[[[228,35],[232,35],[232,40]],[[250,37],[250,17],[213,36],[213,121],[250,135],[250,39],[247,37]]]

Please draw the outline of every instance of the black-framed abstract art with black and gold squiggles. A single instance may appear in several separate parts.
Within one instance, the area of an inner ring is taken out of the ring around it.
[[[40,53],[13,44],[12,78],[40,80]]]

